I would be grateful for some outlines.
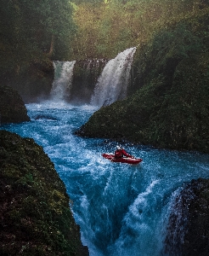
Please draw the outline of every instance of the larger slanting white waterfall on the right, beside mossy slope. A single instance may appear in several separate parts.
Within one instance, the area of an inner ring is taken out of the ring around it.
[[[107,62],[95,86],[92,105],[110,105],[127,96],[127,84],[135,51],[136,47],[126,49]]]

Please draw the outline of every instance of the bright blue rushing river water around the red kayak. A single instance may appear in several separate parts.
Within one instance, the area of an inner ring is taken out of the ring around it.
[[[42,145],[73,201],[71,208],[90,255],[163,255],[172,201],[184,183],[209,177],[209,155],[122,144],[143,162],[112,163],[101,154],[114,152],[116,142],[74,135],[95,108],[63,102],[26,108],[31,122],[1,129],[33,137]]]

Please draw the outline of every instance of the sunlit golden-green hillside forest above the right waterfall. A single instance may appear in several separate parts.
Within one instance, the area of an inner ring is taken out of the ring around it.
[[[73,57],[113,58],[124,49],[143,45],[155,32],[198,15],[207,0],[74,0],[76,33]],[[98,3],[98,4],[95,4]]]

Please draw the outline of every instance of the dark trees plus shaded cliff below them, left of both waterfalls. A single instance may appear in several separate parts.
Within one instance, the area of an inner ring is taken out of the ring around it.
[[[52,59],[70,58],[72,9],[68,0],[0,1],[0,79],[25,102],[48,95]]]

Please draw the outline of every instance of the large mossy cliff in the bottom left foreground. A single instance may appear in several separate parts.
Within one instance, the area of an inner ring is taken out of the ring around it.
[[[88,255],[69,202],[42,147],[0,131],[0,254]]]

